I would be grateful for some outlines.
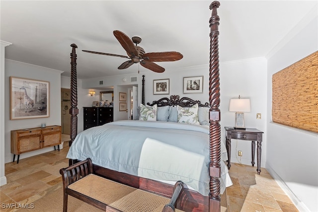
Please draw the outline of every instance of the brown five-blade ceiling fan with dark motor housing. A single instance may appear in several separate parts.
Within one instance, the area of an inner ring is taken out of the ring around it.
[[[141,38],[138,36],[132,37],[130,39],[125,33],[115,30],[114,35],[119,41],[121,46],[126,50],[127,56],[124,55],[114,55],[109,53],[102,52],[92,52],[87,50],[82,50],[83,52],[99,54],[99,55],[109,55],[121,58],[130,59],[129,61],[124,62],[118,67],[118,69],[127,69],[135,63],[140,63],[146,69],[161,73],[164,71],[164,68],[155,64],[154,62],[168,62],[168,61],[178,61],[183,58],[183,55],[179,52],[151,52],[145,53],[145,50],[140,46],[137,46],[141,42]],[[136,46],[134,45],[136,44]]]

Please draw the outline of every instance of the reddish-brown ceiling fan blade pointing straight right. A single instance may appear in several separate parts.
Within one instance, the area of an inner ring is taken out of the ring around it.
[[[143,55],[143,59],[151,62],[178,61],[183,58],[179,52],[150,52]]]

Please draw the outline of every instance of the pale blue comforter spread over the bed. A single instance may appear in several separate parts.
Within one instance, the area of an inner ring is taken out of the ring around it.
[[[158,121],[111,122],[79,133],[67,157],[89,157],[96,165],[163,182],[181,180],[202,195],[209,194],[207,127]],[[223,193],[232,185],[223,161],[221,175]]]

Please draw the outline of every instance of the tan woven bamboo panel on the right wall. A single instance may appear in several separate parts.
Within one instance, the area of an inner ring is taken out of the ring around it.
[[[273,74],[273,122],[318,133],[318,51]]]

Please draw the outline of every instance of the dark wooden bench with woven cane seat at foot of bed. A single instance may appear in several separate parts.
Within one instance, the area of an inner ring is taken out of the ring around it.
[[[175,209],[183,188],[178,181],[171,199],[136,189],[93,174],[90,158],[60,170],[63,179],[63,212],[67,212],[68,195],[108,212],[182,212]]]

